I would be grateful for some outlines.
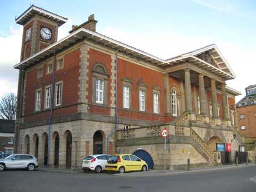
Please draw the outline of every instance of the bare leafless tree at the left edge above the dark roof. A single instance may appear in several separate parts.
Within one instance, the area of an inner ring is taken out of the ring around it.
[[[14,120],[17,110],[17,96],[14,93],[5,94],[0,101],[0,119]]]

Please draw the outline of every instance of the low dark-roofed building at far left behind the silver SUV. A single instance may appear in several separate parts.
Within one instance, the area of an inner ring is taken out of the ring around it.
[[[12,154],[14,151],[14,120],[0,119],[0,152]]]

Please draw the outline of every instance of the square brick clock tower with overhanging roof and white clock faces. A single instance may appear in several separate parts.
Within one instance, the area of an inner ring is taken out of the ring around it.
[[[66,21],[67,18],[35,5],[31,5],[28,10],[17,17],[16,23],[23,25],[20,61],[57,42],[58,27]]]

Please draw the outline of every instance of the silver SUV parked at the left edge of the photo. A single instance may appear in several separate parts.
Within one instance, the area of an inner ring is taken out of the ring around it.
[[[4,169],[28,169],[33,171],[38,166],[38,159],[28,154],[13,154],[5,159],[0,159],[0,172]]]

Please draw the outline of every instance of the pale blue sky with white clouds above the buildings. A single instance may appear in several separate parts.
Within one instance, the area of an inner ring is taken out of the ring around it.
[[[15,18],[30,5],[68,17],[60,26],[58,40],[72,25],[90,14],[98,20],[96,31],[167,59],[215,43],[236,74],[226,81],[245,96],[245,87],[256,84],[256,1],[40,1],[0,0],[0,98],[17,93],[22,26]]]

